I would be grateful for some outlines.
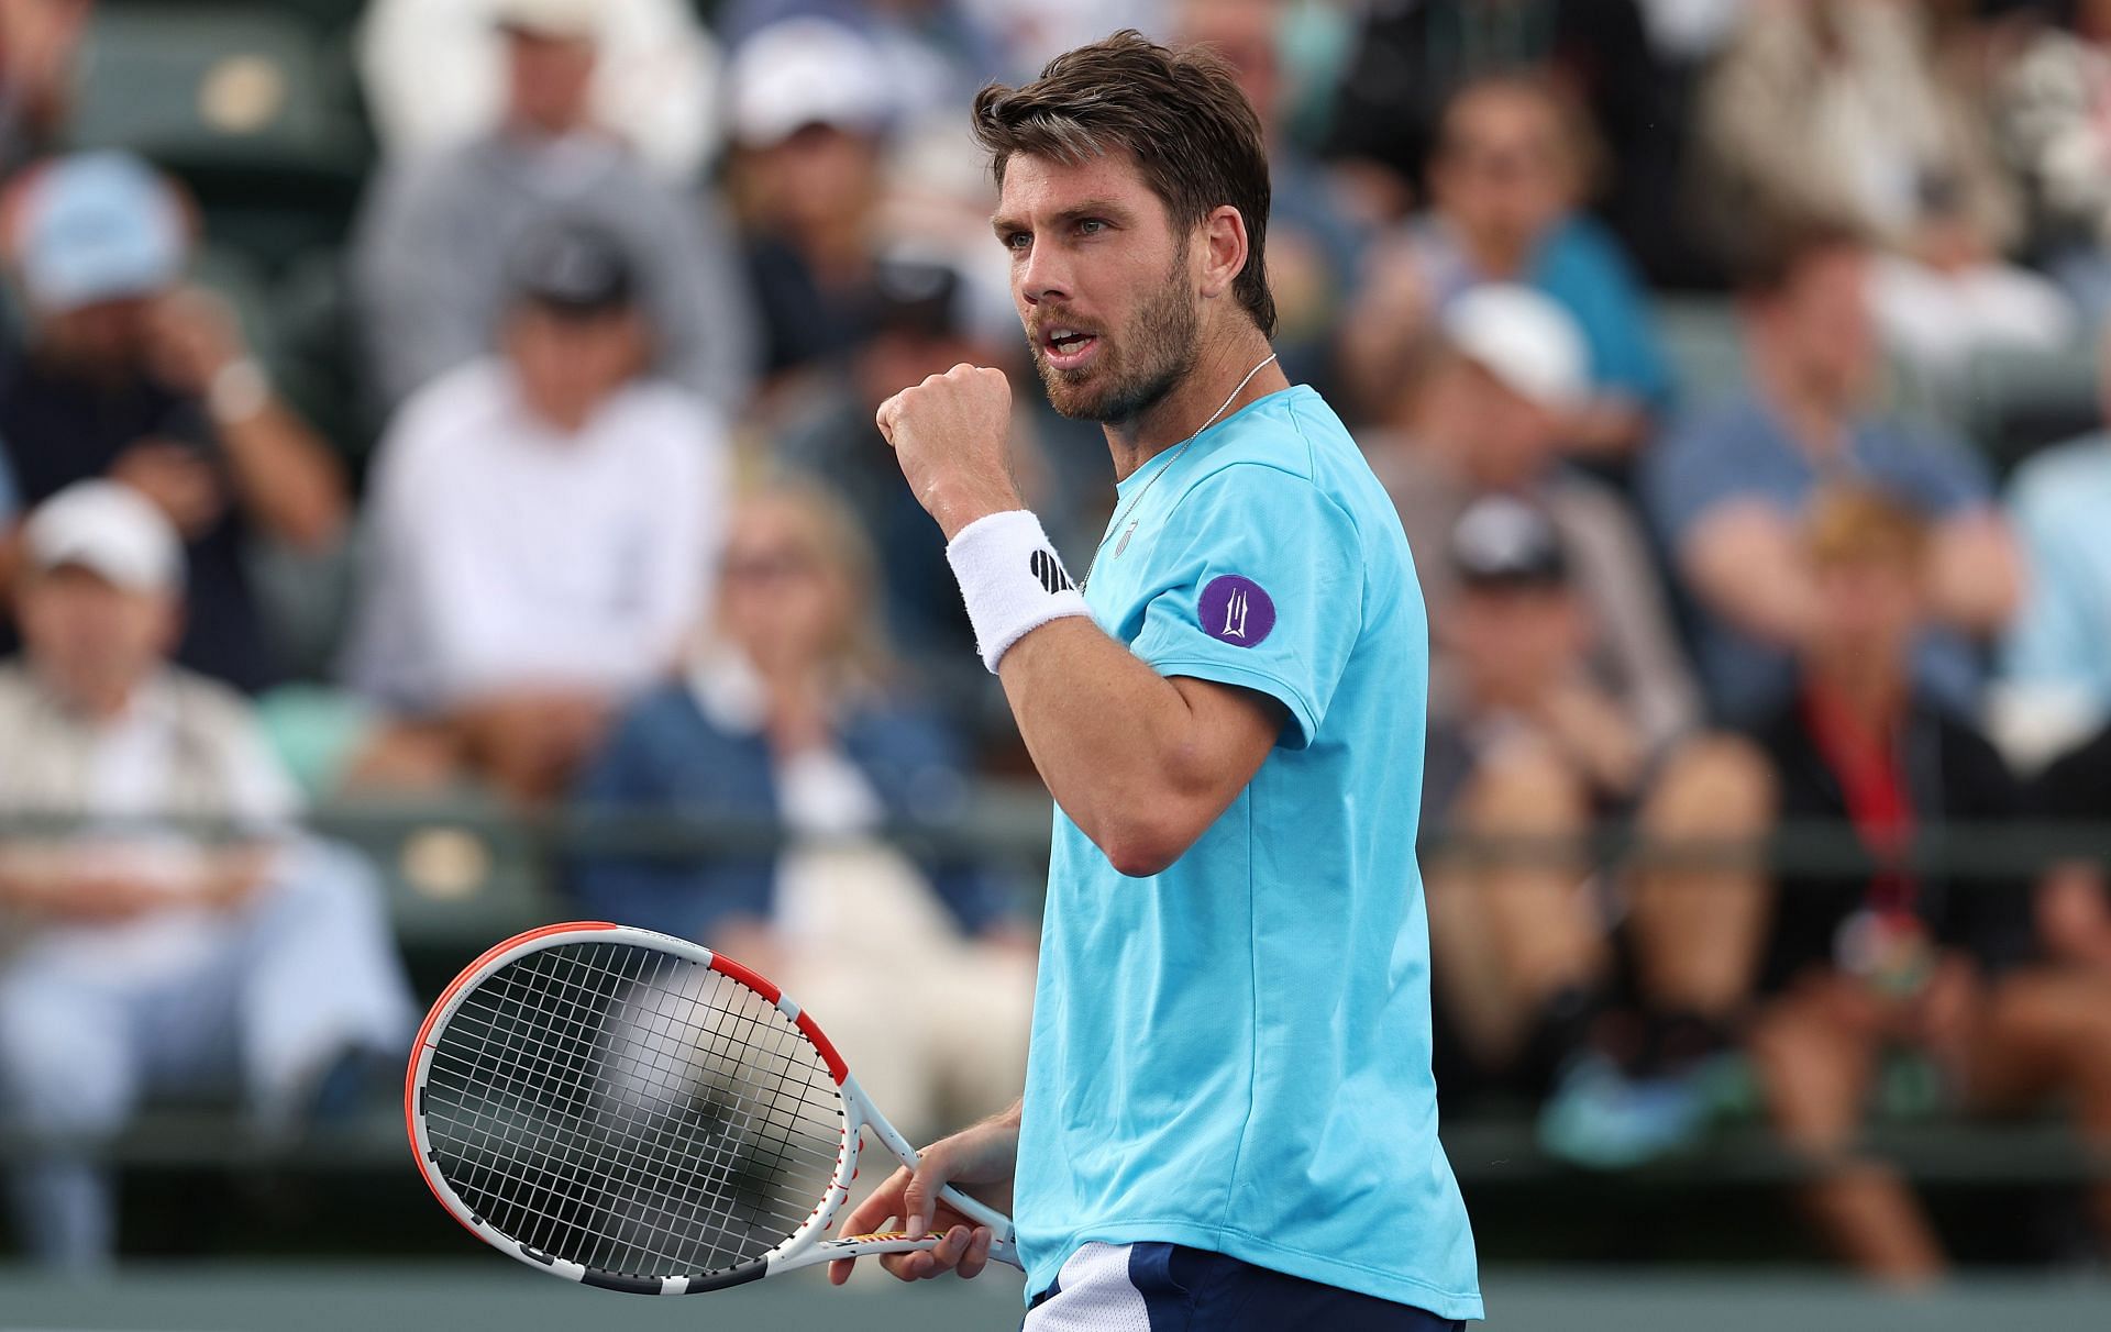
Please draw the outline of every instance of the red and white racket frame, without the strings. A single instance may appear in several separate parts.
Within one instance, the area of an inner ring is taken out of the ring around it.
[[[545,948],[557,948],[564,944],[638,944],[688,958],[701,967],[709,967],[711,971],[747,986],[768,1003],[777,1005],[777,1011],[790,1017],[798,1026],[800,1034],[806,1036],[806,1041],[821,1053],[828,1074],[836,1081],[836,1091],[842,1096],[842,1140],[836,1148],[836,1176],[806,1220],[766,1254],[722,1273],[690,1277],[633,1277],[593,1271],[578,1262],[545,1254],[513,1239],[511,1235],[500,1233],[477,1216],[460,1197],[456,1197],[448,1180],[439,1176],[439,1169],[435,1167],[435,1150],[424,1129],[424,1115],[420,1112],[420,1093],[433,1064],[435,1032],[454,1017],[454,1011],[462,1005],[462,1001],[494,971],[534,952],[543,952]],[[880,1144],[887,1146],[887,1150],[893,1153],[893,1157],[904,1165],[916,1165],[916,1148],[912,1148],[895,1125],[887,1123],[887,1117],[874,1108],[863,1089],[857,1085],[857,1079],[851,1077],[842,1055],[836,1053],[828,1034],[815,1024],[813,1017],[800,1011],[792,996],[762,975],[756,975],[747,967],[728,956],[720,956],[701,944],[690,944],[688,939],[678,939],[650,929],[638,929],[633,925],[612,925],[608,920],[545,925],[543,929],[532,929],[496,944],[475,963],[464,967],[462,973],[456,975],[454,982],[441,992],[433,1011],[426,1013],[424,1026],[418,1028],[418,1043],[412,1047],[410,1068],[403,1074],[403,1125],[410,1131],[412,1153],[426,1188],[433,1191],[439,1205],[443,1205],[454,1220],[462,1222],[471,1235],[500,1254],[519,1258],[536,1271],[564,1277],[568,1281],[581,1281],[585,1286],[597,1286],[602,1290],[621,1290],[629,1294],[701,1294],[707,1290],[724,1290],[726,1286],[758,1281],[771,1273],[796,1271],[838,1258],[870,1258],[876,1254],[927,1250],[939,1239],[937,1235],[910,1239],[901,1233],[842,1235],[838,1239],[825,1239],[830,1226],[836,1224],[836,1212],[840,1212],[844,1199],[851,1197],[851,1180],[857,1178],[857,1153],[863,1146],[863,1134],[859,1129],[870,1129],[872,1136],[878,1138]],[[950,1184],[939,1191],[939,1197],[961,1216],[967,1216],[975,1224],[990,1226],[990,1258],[1020,1267],[1009,1216],[963,1195]]]

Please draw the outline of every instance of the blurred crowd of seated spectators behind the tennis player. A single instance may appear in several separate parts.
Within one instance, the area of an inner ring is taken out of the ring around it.
[[[108,112],[120,21],[194,11],[0,2],[25,1248],[110,1256],[93,1146],[148,1100],[217,1081],[293,1134],[401,1060],[380,878],[319,802],[775,823],[564,889],[844,1013],[906,1127],[1015,1093],[1020,884],[885,834],[1030,766],[872,414],[1005,367],[1024,492],[1098,543],[1108,456],[1032,382],[965,106],[1129,25],[1260,112],[1283,365],[1416,553],[1448,1110],[1526,1098],[1619,1167],[1756,1106],[1818,1231],[1902,1281],[1940,1237],[1858,1153],[1902,1060],[2111,1142],[2103,857],[1923,853],[2111,821],[2111,4],[251,8],[363,127],[344,201],[277,230],[243,205],[289,169],[230,188]],[[258,78],[209,68],[207,120]],[[1841,853],[1761,855],[1807,825]],[[874,986],[988,1034],[855,1030]]]

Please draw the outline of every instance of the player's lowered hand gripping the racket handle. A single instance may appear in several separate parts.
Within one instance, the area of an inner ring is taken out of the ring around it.
[[[973,1191],[1001,1212],[1011,1210],[1011,1176],[1020,1165],[1020,1110],[984,1119],[927,1146],[916,1161],[916,1169],[897,1169],[893,1178],[872,1191],[849,1216],[842,1218],[842,1235],[868,1235],[889,1216],[901,1220],[910,1237],[937,1231],[944,1235],[937,1248],[914,1254],[885,1254],[880,1267],[901,1281],[923,1281],[948,1271],[975,1277],[990,1262],[990,1226],[977,1226],[939,1201],[937,1193],[946,1184],[984,1184]],[[855,1258],[828,1264],[830,1286],[851,1279]]]

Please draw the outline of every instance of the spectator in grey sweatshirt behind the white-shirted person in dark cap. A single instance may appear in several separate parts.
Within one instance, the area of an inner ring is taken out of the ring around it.
[[[355,228],[350,274],[382,407],[492,350],[505,255],[551,217],[623,236],[661,336],[659,369],[726,416],[752,376],[749,310],[707,201],[673,190],[593,118],[608,13],[597,0],[496,0],[502,120],[469,144],[384,165]]]

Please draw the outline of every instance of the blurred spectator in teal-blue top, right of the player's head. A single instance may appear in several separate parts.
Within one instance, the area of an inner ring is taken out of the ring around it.
[[[1372,353],[1383,359],[1429,312],[1480,283],[1528,283],[1568,310],[1590,346],[1594,397],[1571,416],[1568,445],[1594,456],[1638,448],[1670,397],[1670,374],[1625,255],[1573,211],[1581,182],[1573,116],[1549,84],[1499,78],[1461,89],[1429,163],[1431,211],[1376,255],[1345,331],[1366,395]]]

